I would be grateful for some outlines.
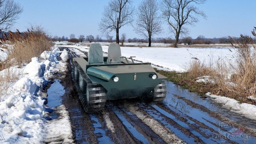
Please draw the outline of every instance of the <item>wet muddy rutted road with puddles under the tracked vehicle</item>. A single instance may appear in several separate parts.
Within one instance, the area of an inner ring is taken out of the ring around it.
[[[67,48],[68,69],[60,77],[62,97],[70,112],[77,143],[256,143],[256,121],[221,108],[209,98],[201,98],[166,81],[167,96],[163,103],[144,104],[139,99],[107,101],[103,112],[87,114],[76,94],[73,57],[87,53]],[[240,130],[240,135],[237,132]],[[242,130],[242,132],[241,132]]]

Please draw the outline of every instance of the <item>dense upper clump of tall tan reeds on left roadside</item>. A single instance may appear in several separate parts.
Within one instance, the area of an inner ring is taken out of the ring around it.
[[[12,61],[15,65],[24,65],[33,57],[39,57],[45,50],[51,50],[53,43],[48,39],[45,30],[41,26],[31,26],[27,31],[20,33],[9,31],[9,35],[1,39],[1,44],[9,44],[6,61]]]

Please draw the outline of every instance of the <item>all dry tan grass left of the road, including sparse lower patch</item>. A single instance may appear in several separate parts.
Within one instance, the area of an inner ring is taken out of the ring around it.
[[[0,39],[2,48],[7,49],[7,59],[0,61],[0,100],[6,95],[12,82],[19,79],[20,71],[14,66],[23,66],[33,57],[39,57],[45,50],[51,50],[53,43],[41,26],[31,25],[20,33],[9,31],[9,35]]]

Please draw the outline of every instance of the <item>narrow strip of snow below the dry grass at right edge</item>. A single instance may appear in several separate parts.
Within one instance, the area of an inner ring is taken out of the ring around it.
[[[227,97],[212,95],[210,92],[205,94],[208,97],[213,98],[217,103],[222,104],[222,107],[229,109],[232,112],[240,114],[246,118],[256,120],[256,106],[248,103],[239,103],[239,101]]]

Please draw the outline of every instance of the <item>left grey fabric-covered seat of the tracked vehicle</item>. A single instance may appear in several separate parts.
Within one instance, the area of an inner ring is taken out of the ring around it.
[[[92,43],[89,48],[88,63],[103,63],[102,47],[99,43]]]

